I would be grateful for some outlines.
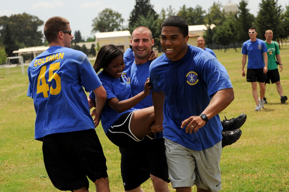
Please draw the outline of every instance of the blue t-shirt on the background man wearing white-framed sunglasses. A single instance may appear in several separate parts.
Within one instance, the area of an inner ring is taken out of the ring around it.
[[[267,52],[266,44],[263,40],[257,39],[245,41],[242,46],[242,54],[248,55],[247,69],[260,69],[264,68],[263,53]]]

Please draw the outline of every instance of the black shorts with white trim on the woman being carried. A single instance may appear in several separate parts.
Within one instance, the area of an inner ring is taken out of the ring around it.
[[[143,143],[147,143],[151,139],[155,138],[155,134],[151,137],[146,136],[142,139],[138,139],[130,131],[130,120],[134,111],[130,113],[124,113],[118,120],[112,124],[109,128],[106,136],[108,139],[118,147],[122,148],[136,148]]]

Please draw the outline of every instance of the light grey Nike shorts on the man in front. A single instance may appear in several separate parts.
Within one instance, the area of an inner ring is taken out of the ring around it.
[[[192,187],[212,192],[221,190],[220,159],[222,141],[211,148],[195,151],[165,139],[169,177],[173,188]]]

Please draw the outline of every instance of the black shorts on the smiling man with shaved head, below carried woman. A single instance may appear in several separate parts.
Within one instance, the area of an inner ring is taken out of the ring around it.
[[[125,191],[133,190],[150,178],[150,174],[170,182],[164,139],[153,139],[139,148],[119,148],[121,177]]]

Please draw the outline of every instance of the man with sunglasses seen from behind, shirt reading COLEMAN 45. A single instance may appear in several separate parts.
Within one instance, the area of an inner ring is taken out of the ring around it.
[[[71,28],[63,17],[51,17],[44,25],[49,48],[27,69],[27,96],[36,111],[35,139],[42,141],[45,169],[52,184],[62,191],[86,191],[89,182],[97,192],[109,192],[106,159],[95,132],[86,93],[93,91],[96,123],[106,92],[87,56],[70,49]]]

